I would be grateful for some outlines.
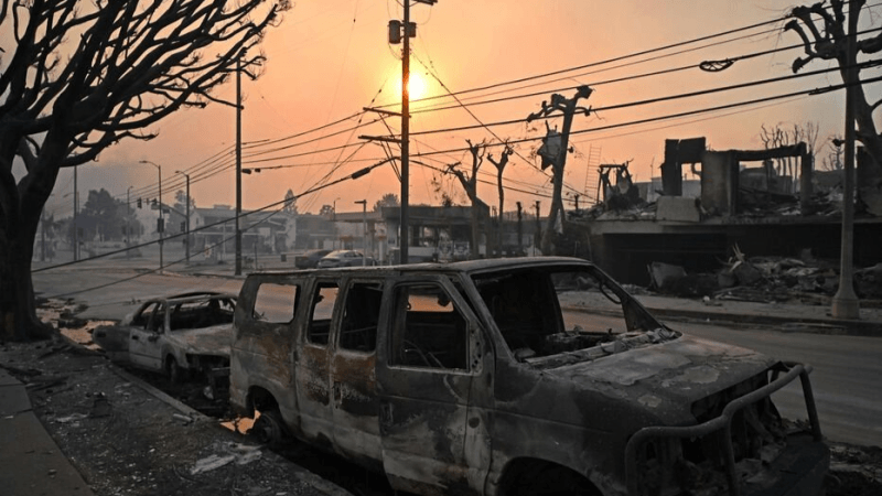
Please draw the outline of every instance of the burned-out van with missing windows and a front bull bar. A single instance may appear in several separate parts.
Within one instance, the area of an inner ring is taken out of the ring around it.
[[[667,327],[590,262],[520,258],[252,273],[230,402],[418,494],[814,495],[808,374]]]

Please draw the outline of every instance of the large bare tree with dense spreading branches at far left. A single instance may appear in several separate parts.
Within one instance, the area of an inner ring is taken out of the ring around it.
[[[209,101],[287,1],[0,0],[0,336],[47,335],[33,301],[37,222],[58,171],[95,160],[182,107]],[[208,50],[214,53],[205,54]],[[254,52],[257,52],[256,50]],[[254,71],[254,72],[252,72]],[[18,180],[13,165],[24,174]]]

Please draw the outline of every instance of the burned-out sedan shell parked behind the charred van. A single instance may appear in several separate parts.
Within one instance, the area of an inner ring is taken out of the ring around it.
[[[229,373],[229,342],[236,295],[194,292],[146,301],[119,324],[92,338],[119,363],[163,373],[172,382],[204,378],[209,385]]]

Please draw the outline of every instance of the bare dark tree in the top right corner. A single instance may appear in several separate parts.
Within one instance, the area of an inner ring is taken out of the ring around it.
[[[806,53],[805,57],[798,57],[794,61],[793,72],[798,72],[817,58],[836,61],[839,64],[839,73],[842,80],[847,82],[848,37],[846,35],[847,15],[845,7],[850,4],[851,9],[857,9],[854,15],[860,15],[865,0],[852,0],[851,2],[831,0],[830,8],[827,8],[824,3],[815,3],[811,7],[793,9],[790,11],[793,19],[785,25],[785,31],[792,30],[799,35]],[[872,37],[858,40],[856,50],[858,51],[857,55],[873,54],[882,51],[882,32],[876,31],[876,34]],[[860,68],[857,72],[859,73]],[[876,166],[882,166],[882,134],[880,134],[873,121],[873,112],[882,105],[882,98],[876,101],[868,101],[863,85],[859,85],[854,94],[854,116],[858,125],[857,139],[863,143]]]

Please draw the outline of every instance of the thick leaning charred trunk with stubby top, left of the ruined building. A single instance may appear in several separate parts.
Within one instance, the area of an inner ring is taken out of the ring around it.
[[[542,158],[542,169],[551,165],[551,171],[555,177],[555,194],[551,197],[551,212],[548,215],[548,227],[546,228],[545,236],[542,236],[542,255],[552,255],[551,251],[553,251],[553,236],[556,233],[558,215],[560,215],[560,222],[561,225],[563,225],[564,212],[563,200],[561,197],[563,192],[563,165],[567,163],[567,149],[569,148],[572,118],[577,112],[584,112],[585,116],[588,116],[590,112],[590,109],[577,107],[576,104],[580,98],[590,97],[592,91],[593,89],[587,85],[582,85],[579,86],[576,95],[573,95],[572,98],[564,98],[562,95],[556,93],[551,95],[551,105],[542,101],[541,110],[527,116],[527,122],[531,122],[534,119],[546,118],[555,111],[560,111],[563,114],[563,128],[561,129],[558,138],[560,142],[557,149],[555,149],[552,145],[551,140],[548,139],[552,136],[552,131],[550,129],[548,138],[542,140],[544,144],[539,149],[539,155]],[[546,123],[546,126],[548,125]]]

